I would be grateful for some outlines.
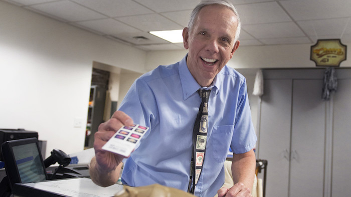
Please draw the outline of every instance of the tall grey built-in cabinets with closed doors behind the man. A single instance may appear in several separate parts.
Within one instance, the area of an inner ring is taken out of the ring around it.
[[[346,70],[349,75],[341,77],[351,77]],[[341,177],[347,178],[342,173],[350,159],[344,151],[351,147],[344,150],[339,142],[350,136],[351,106],[345,105],[351,105],[351,79],[345,79],[348,88],[340,82],[335,98],[323,101],[323,74],[324,69],[264,70],[257,156],[269,162],[266,196],[342,196],[340,188],[350,189]]]

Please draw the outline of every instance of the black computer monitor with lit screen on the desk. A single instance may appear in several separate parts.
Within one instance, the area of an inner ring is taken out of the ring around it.
[[[18,182],[48,179],[37,138],[6,141],[2,151],[11,187]]]

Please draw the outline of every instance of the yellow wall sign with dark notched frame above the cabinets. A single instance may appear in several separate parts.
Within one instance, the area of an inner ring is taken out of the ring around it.
[[[318,39],[311,46],[310,59],[316,66],[339,66],[346,60],[346,47],[340,39]]]

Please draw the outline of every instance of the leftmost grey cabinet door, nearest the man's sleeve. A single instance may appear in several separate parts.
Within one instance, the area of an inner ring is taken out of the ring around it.
[[[291,79],[264,80],[258,158],[268,160],[266,196],[288,196]]]

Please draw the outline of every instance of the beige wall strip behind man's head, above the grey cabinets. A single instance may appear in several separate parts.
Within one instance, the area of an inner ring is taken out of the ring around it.
[[[351,44],[351,43],[343,43]],[[289,44],[269,46],[239,46],[233,58],[228,62],[234,68],[310,68],[315,63],[310,60],[310,47],[313,44]],[[157,65],[167,65],[181,60],[186,50],[149,51],[146,55],[145,69],[151,70]],[[351,51],[347,51],[347,57]],[[341,67],[351,67],[347,59]]]

